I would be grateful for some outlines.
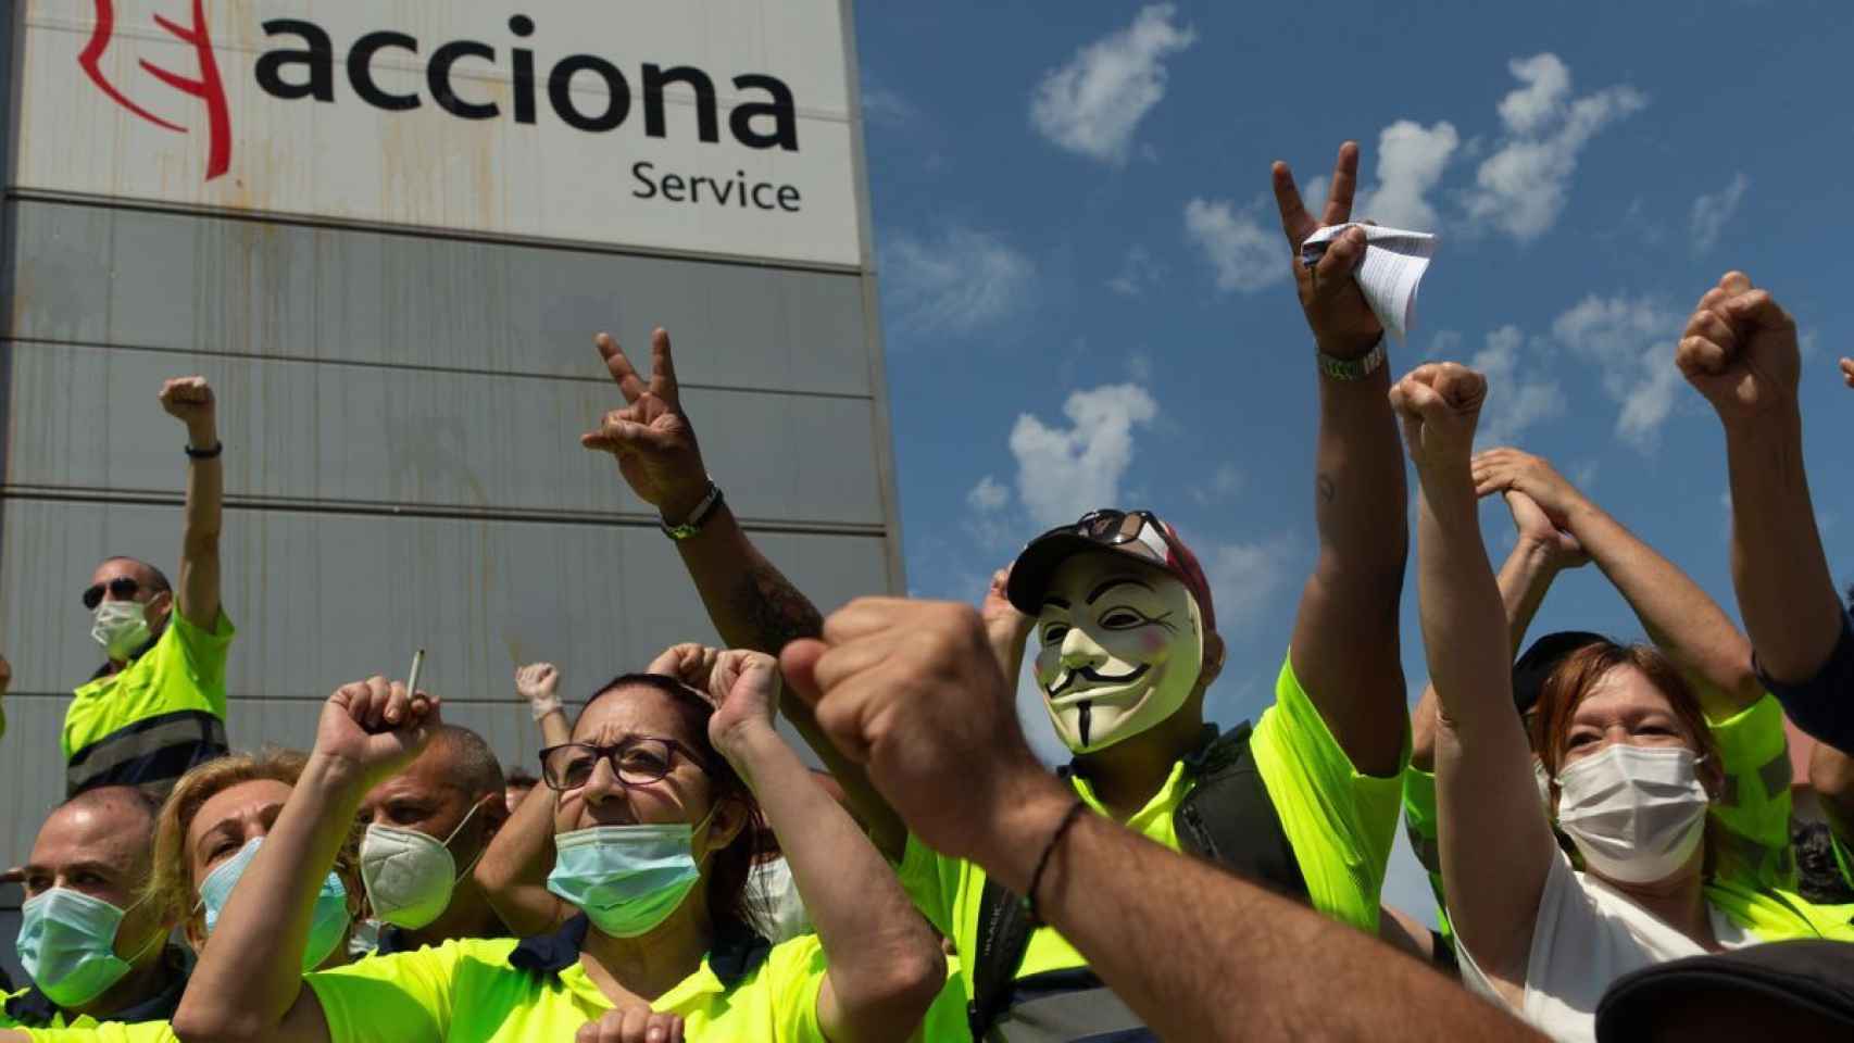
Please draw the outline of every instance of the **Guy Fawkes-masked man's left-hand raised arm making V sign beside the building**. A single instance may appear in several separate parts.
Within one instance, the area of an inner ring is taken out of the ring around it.
[[[625,396],[625,408],[606,413],[597,430],[580,437],[580,445],[617,458],[617,472],[625,484],[656,508],[666,524],[688,522],[708,496],[710,482],[695,428],[682,411],[669,333],[651,333],[649,383],[608,333],[599,333],[597,346],[606,372]],[[725,500],[703,519],[699,532],[677,539],[675,547],[708,619],[730,648],[777,656],[792,639],[821,632],[823,617],[818,608],[747,539]],[[781,711],[844,785],[851,810],[870,830],[875,847],[899,860],[907,848],[907,828],[870,787],[862,771],[819,735],[808,706],[788,698]]]

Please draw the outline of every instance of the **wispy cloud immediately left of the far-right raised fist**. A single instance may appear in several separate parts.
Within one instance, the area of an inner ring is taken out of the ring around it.
[[[1602,372],[1604,391],[1622,406],[1617,434],[1641,450],[1656,446],[1674,411],[1680,369],[1674,339],[1682,315],[1652,298],[1585,296],[1552,322],[1552,335]]]

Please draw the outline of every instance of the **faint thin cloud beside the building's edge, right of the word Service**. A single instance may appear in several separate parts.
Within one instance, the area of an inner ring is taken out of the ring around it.
[[[971,333],[1009,317],[1036,267],[988,232],[947,228],[938,239],[901,233],[883,250],[890,315],[901,333]]]

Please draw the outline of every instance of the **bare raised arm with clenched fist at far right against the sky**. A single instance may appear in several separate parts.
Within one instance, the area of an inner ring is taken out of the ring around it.
[[[1797,322],[1745,272],[1726,272],[1687,320],[1676,361],[1724,424],[1732,582],[1758,663],[1804,684],[1834,652],[1843,608],[1802,467]]]

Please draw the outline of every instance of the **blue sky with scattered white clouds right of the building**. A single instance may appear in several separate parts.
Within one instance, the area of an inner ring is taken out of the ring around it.
[[[977,598],[1053,521],[1153,508],[1216,584],[1211,713],[1261,713],[1313,561],[1316,389],[1268,163],[1305,187],[1348,137],[1359,215],[1441,237],[1394,371],[1489,369],[1483,428],[1733,617],[1722,439],[1672,346],[1726,269],[1771,287],[1804,330],[1815,504],[1854,578],[1843,7],[942,0],[862,4],[858,37],[914,593]],[[1511,547],[1498,504],[1483,528]],[[1413,578],[1403,619],[1415,689]],[[1641,632],[1591,569],[1539,626]],[[1387,900],[1428,915],[1424,895],[1400,850]]]

